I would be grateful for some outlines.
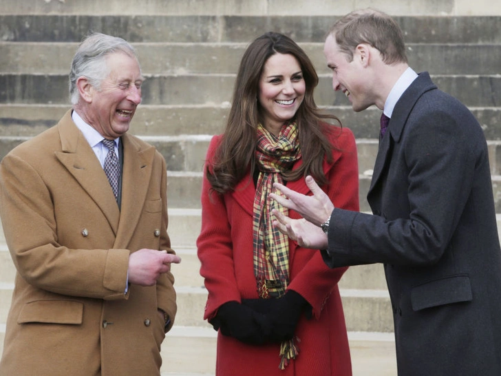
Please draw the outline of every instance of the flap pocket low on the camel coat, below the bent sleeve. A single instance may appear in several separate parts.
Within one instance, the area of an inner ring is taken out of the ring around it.
[[[83,302],[76,300],[35,300],[26,303],[17,318],[18,324],[82,324]]]

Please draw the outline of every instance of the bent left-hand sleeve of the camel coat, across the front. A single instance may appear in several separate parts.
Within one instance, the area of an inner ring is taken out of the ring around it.
[[[21,277],[35,288],[52,293],[126,299],[129,251],[64,247],[58,243],[54,212],[50,190],[39,172],[12,152],[3,158],[0,214]]]

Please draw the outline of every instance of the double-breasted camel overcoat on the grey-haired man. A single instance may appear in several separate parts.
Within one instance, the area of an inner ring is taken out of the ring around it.
[[[122,205],[71,110],[0,165],[0,214],[17,268],[1,376],[160,375],[174,278],[129,285],[129,253],[167,249],[167,168],[125,134]]]

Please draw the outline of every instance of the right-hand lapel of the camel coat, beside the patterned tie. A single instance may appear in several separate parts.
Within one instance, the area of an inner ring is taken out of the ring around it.
[[[133,137],[125,134],[123,143],[122,211],[115,248],[127,248],[138,224],[147,195],[155,148],[141,147]]]

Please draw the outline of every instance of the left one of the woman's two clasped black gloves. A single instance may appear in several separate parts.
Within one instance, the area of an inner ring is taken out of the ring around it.
[[[271,333],[268,317],[238,302],[222,304],[210,323],[216,331],[245,344],[265,344]]]

